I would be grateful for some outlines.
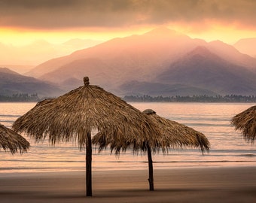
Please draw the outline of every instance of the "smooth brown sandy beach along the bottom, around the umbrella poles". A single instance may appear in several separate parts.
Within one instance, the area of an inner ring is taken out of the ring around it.
[[[1,173],[0,202],[256,202],[256,166],[93,171],[93,197],[85,171]]]

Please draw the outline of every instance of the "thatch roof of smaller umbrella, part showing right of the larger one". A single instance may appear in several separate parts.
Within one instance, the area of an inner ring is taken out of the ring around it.
[[[202,151],[209,150],[209,141],[203,133],[173,120],[160,117],[151,109],[146,109],[143,113],[147,114],[154,125],[160,129],[158,138],[163,146],[173,149],[195,147]]]

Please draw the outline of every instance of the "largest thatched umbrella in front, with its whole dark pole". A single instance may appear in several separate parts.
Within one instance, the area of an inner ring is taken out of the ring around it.
[[[80,86],[58,98],[38,102],[32,110],[18,118],[13,125],[16,132],[26,132],[37,141],[48,137],[51,144],[60,141],[78,141],[80,149],[86,148],[87,196],[92,195],[91,131],[103,132],[117,150],[125,150],[124,141],[139,149],[150,140],[157,147],[157,133],[146,115],[122,99],[99,86],[89,84],[84,77]]]

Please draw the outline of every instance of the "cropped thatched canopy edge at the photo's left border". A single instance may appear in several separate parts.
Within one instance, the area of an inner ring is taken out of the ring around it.
[[[24,153],[29,148],[29,142],[17,132],[0,124],[0,149],[1,148],[5,151],[10,150],[12,154],[18,151]]]

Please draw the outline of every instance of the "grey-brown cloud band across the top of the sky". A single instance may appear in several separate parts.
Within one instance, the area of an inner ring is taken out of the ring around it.
[[[254,0],[0,0],[0,27],[115,28],[214,21],[256,29],[255,11]]]

